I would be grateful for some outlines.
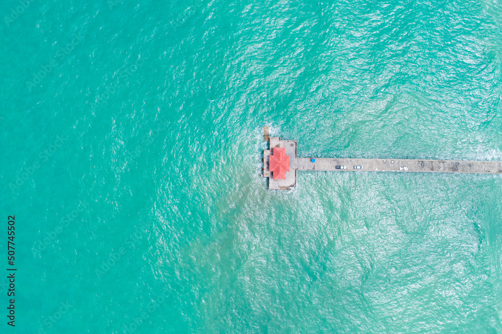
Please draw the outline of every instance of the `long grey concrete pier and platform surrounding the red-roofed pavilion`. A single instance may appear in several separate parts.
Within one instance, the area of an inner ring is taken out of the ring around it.
[[[268,128],[265,137],[270,141],[270,149],[264,151],[263,176],[269,178],[271,190],[294,189],[297,171],[502,174],[502,161],[298,157],[296,140],[270,137]],[[289,156],[289,171],[283,180],[274,179],[274,172],[270,172],[270,155],[275,147],[285,148]]]

